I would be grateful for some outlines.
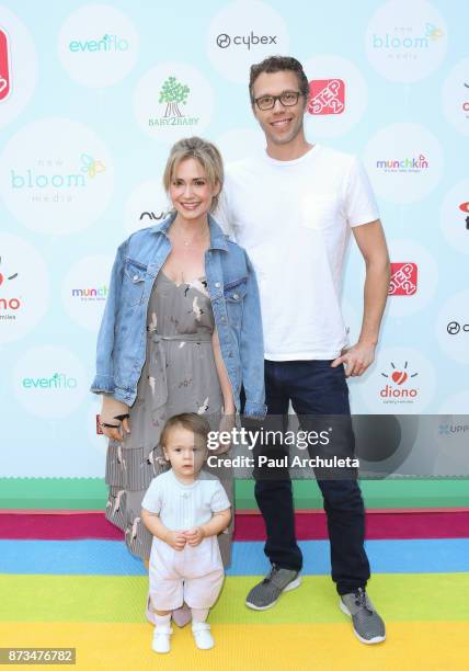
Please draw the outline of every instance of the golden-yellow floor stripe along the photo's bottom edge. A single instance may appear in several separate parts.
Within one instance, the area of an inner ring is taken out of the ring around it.
[[[467,671],[469,660],[464,622],[390,623],[388,640],[377,646],[361,644],[348,623],[215,624],[208,651],[195,649],[188,627],[174,627],[165,656],[151,651],[151,633],[149,624],[2,623],[0,645],[76,647],[79,671]]]

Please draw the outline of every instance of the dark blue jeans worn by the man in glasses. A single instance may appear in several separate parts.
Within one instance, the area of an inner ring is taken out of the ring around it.
[[[350,416],[344,367],[331,368],[330,361],[266,361],[265,394],[268,417],[275,416],[276,421],[283,417],[286,422],[290,400],[300,423],[301,416]],[[346,443],[345,450],[353,457],[352,431]],[[287,471],[285,476],[285,479],[268,479],[254,471],[255,499],[267,532],[265,555],[272,564],[299,570],[302,555],[295,537],[291,480]],[[362,492],[356,478],[318,479],[318,485],[328,519],[332,580],[338,592],[346,594],[364,588],[369,578]]]

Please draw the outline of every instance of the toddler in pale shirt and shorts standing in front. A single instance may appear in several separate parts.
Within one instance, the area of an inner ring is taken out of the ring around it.
[[[214,647],[206,618],[224,582],[217,535],[229,525],[231,511],[218,478],[202,470],[208,431],[208,422],[192,412],[167,421],[160,445],[171,468],[153,478],[141,502],[141,520],[153,535],[149,579],[156,652],[170,651],[171,611],[184,601],[195,645]]]

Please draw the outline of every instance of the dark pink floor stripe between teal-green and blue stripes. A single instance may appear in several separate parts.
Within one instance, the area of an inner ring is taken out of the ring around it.
[[[328,537],[323,512],[296,514],[299,541]],[[366,537],[377,539],[466,538],[469,537],[469,511],[402,512],[368,514]],[[119,541],[123,533],[103,513],[27,514],[0,513],[0,538],[67,541],[101,538]],[[265,527],[261,515],[237,513],[236,541],[263,541]]]

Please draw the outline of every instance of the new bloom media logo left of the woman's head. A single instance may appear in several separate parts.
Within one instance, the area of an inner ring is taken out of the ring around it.
[[[35,202],[71,202],[75,192],[87,187],[105,169],[101,160],[88,153],[80,156],[79,167],[72,170],[67,170],[61,158],[38,159],[35,167],[10,170],[11,189],[31,190]]]

